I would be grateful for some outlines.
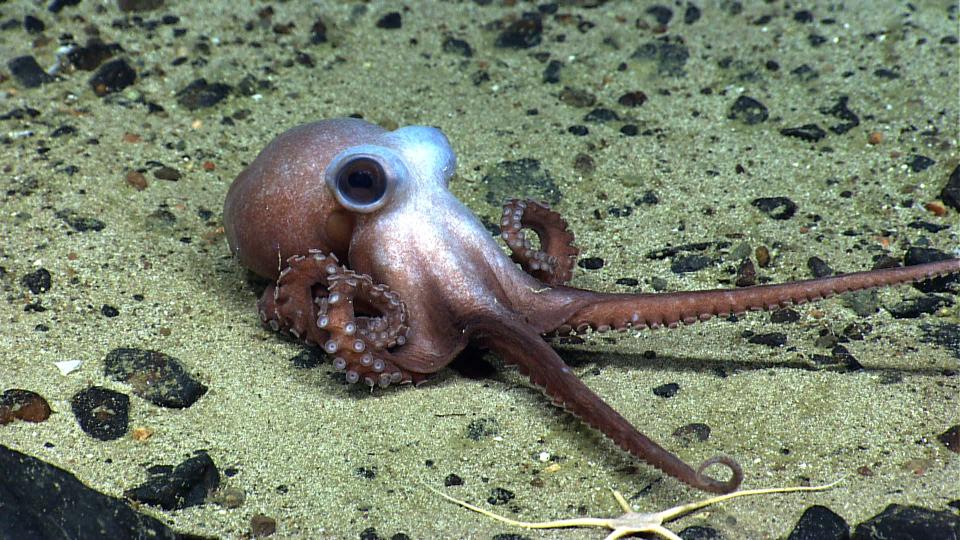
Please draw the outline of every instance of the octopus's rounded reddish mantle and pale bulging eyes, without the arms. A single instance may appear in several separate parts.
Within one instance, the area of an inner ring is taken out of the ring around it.
[[[386,131],[356,118],[298,126],[230,186],[227,241],[244,266],[273,279],[288,257],[310,250],[344,259],[359,222],[430,192],[446,195],[455,167],[436,128]]]

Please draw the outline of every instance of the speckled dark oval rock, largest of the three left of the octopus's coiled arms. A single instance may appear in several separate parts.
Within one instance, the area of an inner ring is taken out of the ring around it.
[[[207,391],[179,360],[159,351],[114,349],[104,359],[103,372],[131,385],[134,394],[161,407],[189,407]]]

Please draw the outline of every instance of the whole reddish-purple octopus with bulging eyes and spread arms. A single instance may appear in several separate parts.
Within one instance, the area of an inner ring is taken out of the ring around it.
[[[491,350],[630,455],[711,493],[739,487],[734,459],[687,464],[585,385],[545,337],[674,328],[960,272],[960,259],[946,259],[730,290],[584,290],[568,285],[578,250],[559,214],[506,202],[508,256],[450,192],[455,168],[447,138],[426,126],[339,118],[274,139],[232,183],[223,214],[233,255],[270,282],[262,323],[322,347],[346,381],[371,387],[422,383],[468,344]],[[713,466],[726,479],[707,474]]]

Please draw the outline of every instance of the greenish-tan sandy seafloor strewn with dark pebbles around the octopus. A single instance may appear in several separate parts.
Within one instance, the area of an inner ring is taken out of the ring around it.
[[[487,221],[499,214],[488,199],[543,196],[533,184],[492,185],[485,179],[497,164],[539,160],[581,257],[604,261],[600,269],[577,268],[573,284],[589,289],[651,291],[653,279],[668,290],[731,286],[732,254],[741,246],[771,249],[773,262],[759,274],[773,282],[809,277],[813,256],[854,271],[878,254],[901,257],[909,245],[957,249],[957,212],[938,217],[924,209],[960,161],[954,2],[743,2],[740,12],[734,2],[695,2],[702,13],[691,24],[683,21],[686,3],[662,2],[674,12],[666,28],[645,13],[647,2],[591,9],[560,2],[543,15],[541,43],[528,49],[495,47],[494,23],[537,11],[536,4],[479,4],[167,2],[138,14],[139,23],[114,2],[83,1],[58,15],[38,2],[0,4],[2,21],[33,14],[46,24],[36,35],[20,26],[0,31],[4,65],[29,54],[51,66],[65,34],[83,43],[96,28],[123,47],[121,57],[138,72],[133,86],[101,98],[88,72],[27,89],[0,69],[0,113],[40,112],[0,121],[0,389],[40,392],[55,410],[44,423],[0,427],[0,443],[115,496],[143,482],[146,466],[206,449],[221,470],[238,469],[224,485],[243,490],[244,504],[145,511],[179,531],[222,538],[243,536],[257,513],[277,520],[279,538],[359,538],[371,527],[382,538],[604,534],[511,528],[419,485],[442,488],[450,474],[464,484],[447,492],[520,519],[617,514],[610,487],[643,511],[702,497],[552,408],[499,362],[492,378],[445,370],[420,388],[372,394],[345,386],[329,362],[294,367],[290,358],[301,347],[260,327],[254,288],[219,227],[224,194],[244,164],[284,129],[311,120],[360,114],[387,126],[440,127],[459,160],[451,189]],[[258,15],[268,5],[272,19]],[[811,22],[796,20],[801,7]],[[391,11],[401,13],[402,27],[378,28]],[[164,15],[179,20],[163,24]],[[310,28],[318,18],[328,41],[314,45]],[[290,23],[287,33],[274,31]],[[664,35],[689,51],[682,72],[631,58]],[[824,39],[814,45],[811,35]],[[444,51],[449,37],[469,43],[472,56]],[[313,65],[298,62],[298,52]],[[181,57],[186,61],[175,62]],[[559,83],[543,82],[550,60],[562,63]],[[794,73],[802,65],[816,76]],[[199,77],[237,87],[247,76],[269,84],[195,111],[177,103],[176,92]],[[596,104],[561,100],[564,87],[595,96]],[[647,102],[619,104],[631,91],[644,92]],[[756,125],[729,119],[740,95],[764,103],[769,118]],[[860,125],[837,135],[828,127],[840,120],[823,111],[840,96],[849,97]],[[620,119],[584,121],[595,107]],[[811,143],[780,134],[809,123],[827,136]],[[623,135],[626,124],[640,134]],[[51,136],[63,125],[76,131]],[[568,132],[574,125],[589,133]],[[875,131],[883,141],[870,145]],[[593,171],[575,168],[581,153],[593,159]],[[935,163],[914,172],[908,164],[915,155]],[[182,178],[154,178],[151,162]],[[148,181],[142,191],[125,180],[137,170]],[[648,190],[659,204],[635,206]],[[796,216],[774,220],[750,204],[775,196],[794,201]],[[625,206],[629,215],[610,210]],[[106,227],[75,232],[56,217],[64,209]],[[948,227],[929,233],[910,227],[916,221]],[[675,274],[669,259],[645,257],[722,240],[731,246],[706,252],[718,262],[694,273]],[[53,285],[34,295],[21,278],[40,267]],[[616,283],[625,277],[639,285]],[[875,301],[892,306],[918,295],[899,287]],[[46,310],[25,311],[37,302]],[[104,305],[119,315],[104,316]],[[793,324],[753,314],[736,324],[714,320],[561,346],[590,387],[689,462],[728,453],[744,466],[745,488],[845,479],[828,492],[726,503],[674,530],[709,525],[728,538],[777,538],[814,504],[854,524],[894,502],[944,510],[960,499],[960,456],[936,440],[960,420],[960,360],[956,349],[923,339],[924,325],[960,322],[956,305],[904,320],[884,309],[859,317],[843,299],[799,311]],[[815,343],[820,333],[854,322],[872,325],[865,340],[845,344],[864,369],[812,369],[814,354],[829,354]],[[783,332],[788,342],[750,344],[746,331]],[[154,435],[101,442],[79,429],[69,399],[91,384],[130,393],[102,374],[105,354],[123,346],[181,359],[210,390],[185,410],[132,396],[131,427]],[[54,362],[69,359],[83,365],[61,375]],[[655,397],[652,389],[666,383],[680,392]],[[496,436],[466,436],[471,422],[487,418],[499,426]],[[709,440],[685,447],[671,435],[690,422],[708,424]],[[556,457],[544,462],[541,455]],[[872,475],[858,474],[861,467]],[[492,488],[515,498],[490,507],[484,501]]]

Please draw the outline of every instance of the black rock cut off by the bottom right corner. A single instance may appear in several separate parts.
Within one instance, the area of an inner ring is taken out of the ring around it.
[[[857,525],[853,540],[933,540],[960,538],[960,517],[946,510],[891,504]]]

